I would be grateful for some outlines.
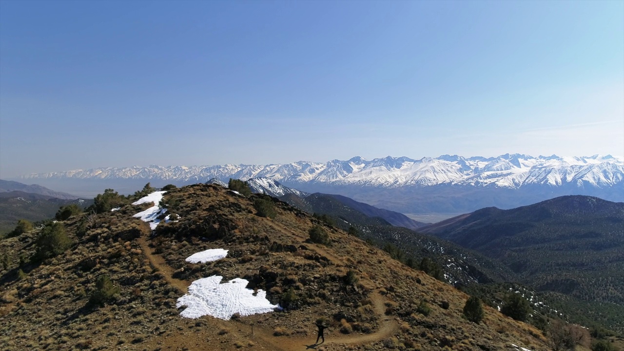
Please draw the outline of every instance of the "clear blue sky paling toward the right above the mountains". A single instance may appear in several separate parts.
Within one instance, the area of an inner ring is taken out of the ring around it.
[[[624,1],[0,1],[0,178],[624,156]]]

